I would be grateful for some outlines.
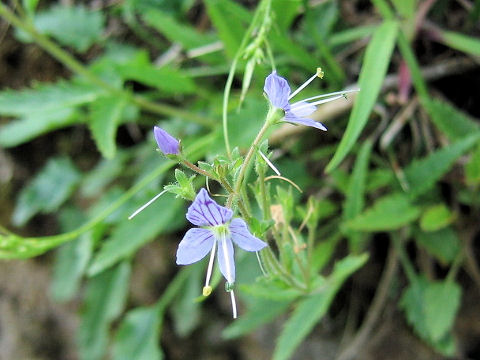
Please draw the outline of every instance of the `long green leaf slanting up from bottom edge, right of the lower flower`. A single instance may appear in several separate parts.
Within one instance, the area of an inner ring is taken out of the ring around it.
[[[357,271],[368,256],[347,256],[335,264],[326,286],[317,293],[300,301],[292,316],[285,323],[273,354],[274,360],[286,360],[293,354],[298,345],[310,333],[315,324],[326,314],[335,295],[345,280]]]

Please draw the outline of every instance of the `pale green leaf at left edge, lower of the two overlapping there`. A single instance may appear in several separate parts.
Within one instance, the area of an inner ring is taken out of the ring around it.
[[[40,135],[72,125],[77,121],[78,113],[73,108],[34,111],[1,127],[0,146],[8,148],[21,145]]]

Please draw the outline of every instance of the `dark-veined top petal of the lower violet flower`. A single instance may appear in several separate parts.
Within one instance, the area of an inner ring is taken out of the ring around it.
[[[232,215],[232,210],[218,205],[203,188],[187,211],[188,221],[197,226],[222,225],[229,221]]]

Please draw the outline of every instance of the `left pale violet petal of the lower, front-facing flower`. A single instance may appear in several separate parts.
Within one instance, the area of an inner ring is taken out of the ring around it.
[[[177,264],[189,265],[205,257],[212,250],[215,236],[210,230],[193,228],[187,231],[177,249]]]

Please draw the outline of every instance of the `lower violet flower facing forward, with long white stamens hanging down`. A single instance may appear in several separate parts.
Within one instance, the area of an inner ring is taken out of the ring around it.
[[[218,264],[227,280],[227,289],[232,299],[233,317],[237,317],[235,297],[232,286],[235,282],[235,261],[232,241],[246,251],[259,251],[267,244],[253,236],[247,224],[240,218],[232,220],[233,211],[218,205],[201,189],[192,205],[188,208],[187,219],[197,225],[187,231],[178,245],[177,264],[189,265],[203,259],[210,252],[207,277],[203,295],[212,291],[210,278],[213,269],[215,250],[218,245]]]

